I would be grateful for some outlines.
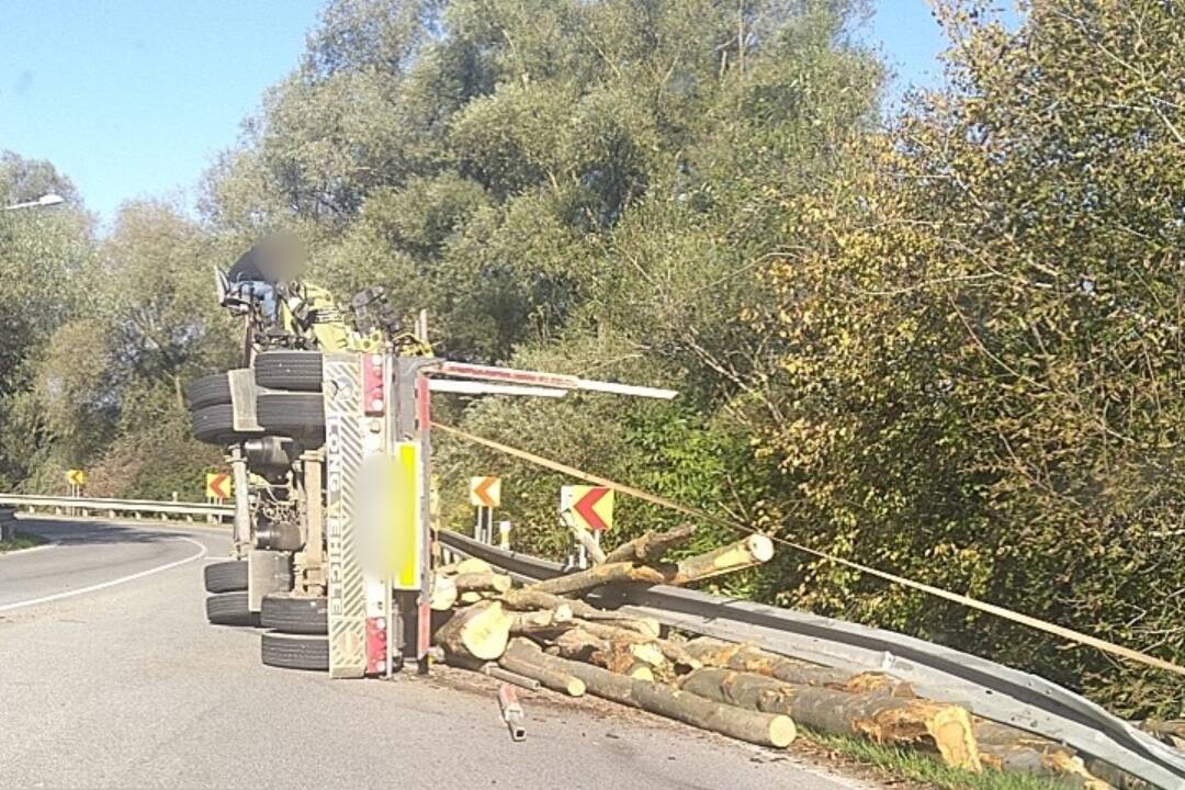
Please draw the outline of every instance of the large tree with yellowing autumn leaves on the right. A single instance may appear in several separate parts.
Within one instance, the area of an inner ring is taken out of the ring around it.
[[[816,546],[1185,657],[1179,188],[1172,4],[950,4],[950,89],[787,195],[806,250],[756,326],[786,418],[763,452]],[[793,496],[790,496],[793,492]],[[816,565],[798,597],[1179,713],[1173,680]]]

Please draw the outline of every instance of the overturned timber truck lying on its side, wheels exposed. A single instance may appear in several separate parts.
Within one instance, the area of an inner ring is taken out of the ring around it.
[[[290,237],[217,272],[242,315],[244,366],[194,380],[193,433],[226,450],[231,559],[205,569],[212,623],[262,627],[264,663],[334,677],[428,669],[434,392],[674,392],[433,355],[379,288],[339,306],[303,280]]]

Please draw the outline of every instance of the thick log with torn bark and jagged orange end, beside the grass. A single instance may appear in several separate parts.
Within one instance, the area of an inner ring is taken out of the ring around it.
[[[819,732],[934,749],[948,765],[980,771],[971,714],[957,705],[784,683],[768,675],[697,669],[680,688],[718,702],[783,713]]]

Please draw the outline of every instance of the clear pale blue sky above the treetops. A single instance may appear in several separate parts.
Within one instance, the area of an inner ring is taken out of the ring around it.
[[[875,0],[867,39],[901,85],[933,84],[925,0]],[[265,88],[297,63],[322,0],[0,0],[0,149],[49,159],[110,219],[184,201]],[[898,90],[899,86],[898,85]]]

